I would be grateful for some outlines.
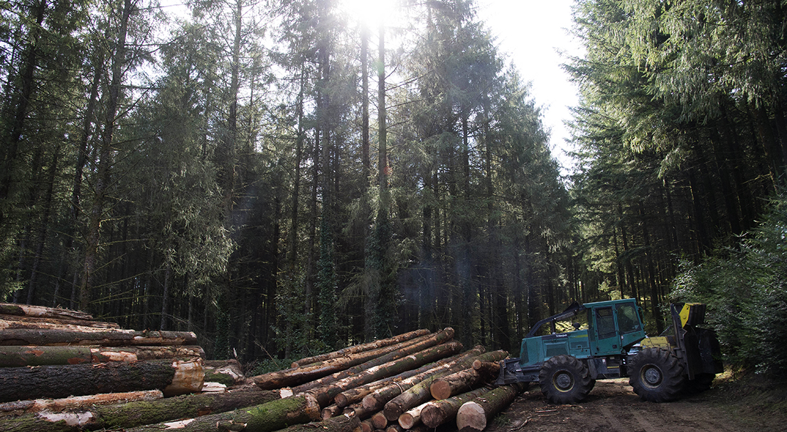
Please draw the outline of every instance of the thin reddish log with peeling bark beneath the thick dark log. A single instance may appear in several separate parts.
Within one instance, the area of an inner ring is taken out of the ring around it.
[[[153,401],[155,399],[161,399],[162,397],[164,397],[164,394],[161,393],[161,390],[143,390],[125,393],[91,394],[88,396],[65,397],[63,399],[33,399],[2,403],[0,404],[0,413],[12,412],[20,415],[45,410],[49,412],[61,412],[78,408],[90,408],[92,405]]]

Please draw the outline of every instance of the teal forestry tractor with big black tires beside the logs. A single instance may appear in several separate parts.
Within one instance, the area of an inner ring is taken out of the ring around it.
[[[682,390],[708,390],[723,371],[719,341],[712,330],[699,328],[705,305],[671,305],[671,335],[648,338],[634,298],[575,302],[563,313],[538,321],[522,339],[519,358],[501,362],[497,385],[539,383],[553,404],[582,401],[597,379],[628,377],[645,401],[672,401]],[[557,324],[573,322],[573,331],[557,332]],[[549,335],[538,336],[549,324]]]

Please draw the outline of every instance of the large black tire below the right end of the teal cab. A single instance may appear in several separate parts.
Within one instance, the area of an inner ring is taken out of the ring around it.
[[[674,401],[685,388],[683,364],[668,350],[642,350],[629,370],[629,384],[643,401]]]

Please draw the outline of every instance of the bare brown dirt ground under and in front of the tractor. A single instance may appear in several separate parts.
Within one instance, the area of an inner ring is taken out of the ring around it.
[[[598,381],[577,405],[550,405],[538,386],[501,412],[486,432],[787,431],[787,383],[719,375],[711,390],[667,404],[641,401],[628,379]]]

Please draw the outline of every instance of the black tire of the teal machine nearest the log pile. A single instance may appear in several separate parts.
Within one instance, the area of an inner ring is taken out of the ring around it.
[[[538,374],[541,393],[553,404],[575,404],[593,388],[586,364],[572,356],[555,356],[544,362]]]

